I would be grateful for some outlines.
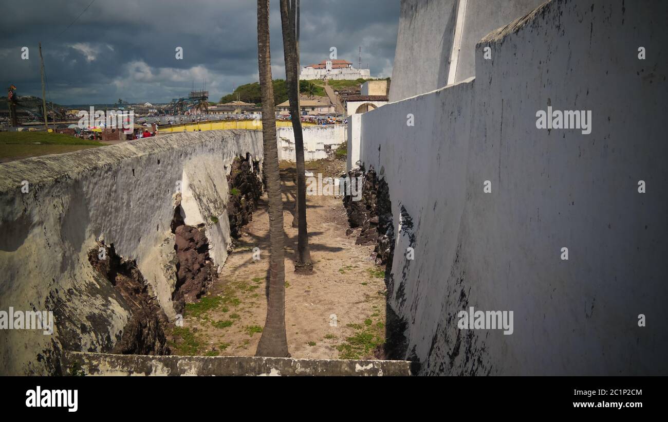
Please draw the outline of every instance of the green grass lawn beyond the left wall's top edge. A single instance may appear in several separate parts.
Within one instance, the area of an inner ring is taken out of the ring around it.
[[[101,142],[46,132],[0,132],[0,162],[21,158],[62,154],[104,146]]]

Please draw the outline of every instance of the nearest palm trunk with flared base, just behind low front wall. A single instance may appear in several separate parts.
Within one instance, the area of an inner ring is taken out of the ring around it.
[[[257,0],[257,53],[262,91],[262,138],[264,170],[269,198],[269,298],[267,319],[257,356],[288,357],[285,335],[285,232],[283,231],[283,198],[279,174],[279,150],[276,144],[274,87],[271,80],[269,49],[269,0]]]

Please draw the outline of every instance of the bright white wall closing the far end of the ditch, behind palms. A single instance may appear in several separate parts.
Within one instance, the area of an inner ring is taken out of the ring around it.
[[[304,137],[304,160],[315,161],[327,158],[325,146],[337,146],[347,142],[346,125],[321,125],[302,128]],[[279,160],[295,162],[295,132],[289,128],[277,128],[277,142],[279,143]]]

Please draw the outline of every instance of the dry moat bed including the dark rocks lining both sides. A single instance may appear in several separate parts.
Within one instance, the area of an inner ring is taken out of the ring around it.
[[[344,173],[341,160],[307,163],[325,177]],[[204,226],[184,224],[177,203],[174,234],[174,308],[170,323],[134,261],[117,256],[114,245],[98,245],[90,262],[118,290],[131,318],[110,353],[140,355],[251,356],[266,315],[269,218],[257,163],[232,164],[227,205],[233,246],[220,272],[208,254]],[[289,350],[303,359],[404,359],[405,323],[387,305],[392,276],[394,228],[387,184],[373,168],[363,177],[360,201],[308,196],[309,244],[314,272],[297,275],[294,164],[281,164],[286,233],[286,327]],[[259,248],[259,249],[255,249]],[[260,260],[254,259],[259,251]]]

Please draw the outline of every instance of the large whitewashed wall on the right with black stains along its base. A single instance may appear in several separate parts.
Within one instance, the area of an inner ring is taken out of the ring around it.
[[[361,116],[404,226],[388,297],[422,374],[668,374],[666,15],[552,1],[478,43],[476,79]],[[548,105],[591,110],[591,134],[537,129]],[[514,311],[514,333],[458,329],[469,306]]]

